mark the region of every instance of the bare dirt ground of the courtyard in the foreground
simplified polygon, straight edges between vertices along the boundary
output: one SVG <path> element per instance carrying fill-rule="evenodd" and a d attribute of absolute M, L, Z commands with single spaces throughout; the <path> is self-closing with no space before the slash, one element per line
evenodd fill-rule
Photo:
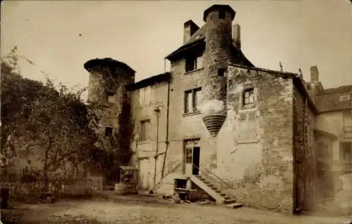
<path fill-rule="evenodd" d="M 347 217 L 286 216 L 271 211 L 197 203 L 173 204 L 146 196 L 113 196 L 89 200 L 61 200 L 54 204 L 17 204 L 4 210 L 6 223 L 346 223 Z M 4 218 L 6 221 L 4 221 Z"/>

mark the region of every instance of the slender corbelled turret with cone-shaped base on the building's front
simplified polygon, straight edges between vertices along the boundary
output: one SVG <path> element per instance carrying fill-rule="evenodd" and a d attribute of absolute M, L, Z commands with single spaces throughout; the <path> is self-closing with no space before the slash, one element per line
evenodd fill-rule
<path fill-rule="evenodd" d="M 217 136 L 226 119 L 227 65 L 232 60 L 232 21 L 236 13 L 228 5 L 204 11 L 206 51 L 203 59 L 203 121 Z"/>

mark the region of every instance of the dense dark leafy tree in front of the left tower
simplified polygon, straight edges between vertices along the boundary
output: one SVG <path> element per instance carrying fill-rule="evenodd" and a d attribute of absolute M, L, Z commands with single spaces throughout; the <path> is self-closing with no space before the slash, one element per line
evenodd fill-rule
<path fill-rule="evenodd" d="M 1 154 L 7 159 L 41 160 L 44 178 L 65 174 L 67 165 L 77 169 L 94 147 L 96 136 L 89 127 L 89 113 L 80 99 L 85 89 L 71 91 L 25 79 L 15 72 L 15 52 L 1 60 Z"/>

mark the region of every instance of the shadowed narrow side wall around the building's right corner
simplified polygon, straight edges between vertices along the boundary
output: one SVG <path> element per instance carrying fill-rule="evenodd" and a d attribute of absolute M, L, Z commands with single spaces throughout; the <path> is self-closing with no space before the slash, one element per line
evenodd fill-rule
<path fill-rule="evenodd" d="M 308 100 L 294 88 L 294 207 L 295 212 L 315 207 L 315 117 Z"/>

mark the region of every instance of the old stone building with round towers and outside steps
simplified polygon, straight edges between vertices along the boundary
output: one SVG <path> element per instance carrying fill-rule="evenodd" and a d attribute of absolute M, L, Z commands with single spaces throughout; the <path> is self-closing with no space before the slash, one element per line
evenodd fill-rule
<path fill-rule="evenodd" d="M 234 17 L 213 5 L 201 27 L 185 22 L 170 72 L 139 82 L 122 62 L 87 62 L 89 101 L 106 105 L 99 132 L 111 136 L 128 96 L 140 188 L 172 194 L 191 178 L 219 204 L 310 211 L 351 173 L 352 86 L 324 89 L 315 66 L 308 82 L 256 67 Z"/>

